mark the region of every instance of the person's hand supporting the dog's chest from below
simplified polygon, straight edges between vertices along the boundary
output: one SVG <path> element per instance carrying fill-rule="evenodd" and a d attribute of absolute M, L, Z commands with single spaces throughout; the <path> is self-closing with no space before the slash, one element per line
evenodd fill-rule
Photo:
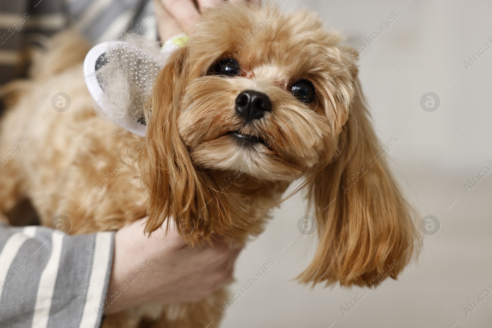
<path fill-rule="evenodd" d="M 174 228 L 165 236 L 165 228 L 161 227 L 147 238 L 143 232 L 145 220 L 115 234 L 104 314 L 145 303 L 198 301 L 232 280 L 240 248 L 215 238 L 213 246 L 201 244 L 191 249 Z"/>

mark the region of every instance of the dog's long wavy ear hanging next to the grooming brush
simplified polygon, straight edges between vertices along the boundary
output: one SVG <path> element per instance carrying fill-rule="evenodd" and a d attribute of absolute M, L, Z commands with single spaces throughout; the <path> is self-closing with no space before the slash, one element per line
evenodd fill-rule
<path fill-rule="evenodd" d="M 149 145 L 139 164 L 149 193 L 146 233 L 158 229 L 166 218 L 174 218 L 179 232 L 194 243 L 219 231 L 220 224 L 230 219 L 230 209 L 212 177 L 193 165 L 179 135 L 186 55 L 186 48 L 177 50 L 157 76 L 145 113 Z"/>

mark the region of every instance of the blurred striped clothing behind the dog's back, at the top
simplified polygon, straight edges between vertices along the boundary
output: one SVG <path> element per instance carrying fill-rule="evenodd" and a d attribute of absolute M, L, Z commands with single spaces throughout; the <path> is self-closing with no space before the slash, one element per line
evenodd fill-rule
<path fill-rule="evenodd" d="M 0 85 L 25 77 L 25 50 L 67 27 L 92 43 L 134 30 L 157 38 L 152 0 L 0 0 Z"/>

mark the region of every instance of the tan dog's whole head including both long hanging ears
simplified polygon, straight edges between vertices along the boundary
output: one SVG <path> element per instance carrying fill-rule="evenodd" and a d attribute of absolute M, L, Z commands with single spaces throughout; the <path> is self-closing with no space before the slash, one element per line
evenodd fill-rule
<path fill-rule="evenodd" d="M 216 177 L 245 173 L 238 185 L 269 191 L 268 181 L 305 175 L 319 244 L 301 281 L 370 284 L 398 261 L 396 277 L 415 227 L 381 158 L 357 54 L 341 42 L 307 10 L 224 2 L 206 12 L 159 73 L 145 114 L 147 231 L 173 217 L 190 242 L 211 233 L 245 240 L 257 229 L 251 213 L 264 209 L 230 202 L 237 193 Z"/>

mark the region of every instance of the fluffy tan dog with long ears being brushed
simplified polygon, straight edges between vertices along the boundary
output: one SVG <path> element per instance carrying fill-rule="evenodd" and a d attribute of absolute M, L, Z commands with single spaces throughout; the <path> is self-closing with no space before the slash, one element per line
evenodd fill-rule
<path fill-rule="evenodd" d="M 417 236 L 379 156 L 357 53 L 316 14 L 236 3 L 206 12 L 155 81 L 146 138 L 95 115 L 85 85 L 78 87 L 83 42 L 54 42 L 33 68 L 45 86 L 32 79 L 10 87 L 21 95 L 1 122 L 0 154 L 23 136 L 29 141 L 2 162 L 1 211 L 27 197 L 43 225 L 62 214 L 73 234 L 119 229 L 148 214 L 149 233 L 173 218 L 190 244 L 215 233 L 243 245 L 303 178 L 319 244 L 300 282 L 369 285 L 394 259 L 392 278 L 409 261 Z M 51 106 L 60 91 L 72 99 L 65 113 Z M 218 327 L 225 299 L 220 290 L 156 307 L 155 327 Z M 136 327 L 145 314 L 110 315 L 104 327 Z"/>

